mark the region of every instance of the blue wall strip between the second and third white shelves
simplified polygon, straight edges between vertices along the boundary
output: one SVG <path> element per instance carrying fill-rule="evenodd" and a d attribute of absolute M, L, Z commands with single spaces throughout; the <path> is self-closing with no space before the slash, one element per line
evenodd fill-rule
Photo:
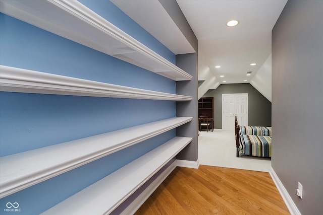
<path fill-rule="evenodd" d="M 0 104 L 1 156 L 175 116 L 174 101 L 1 92 Z"/>

